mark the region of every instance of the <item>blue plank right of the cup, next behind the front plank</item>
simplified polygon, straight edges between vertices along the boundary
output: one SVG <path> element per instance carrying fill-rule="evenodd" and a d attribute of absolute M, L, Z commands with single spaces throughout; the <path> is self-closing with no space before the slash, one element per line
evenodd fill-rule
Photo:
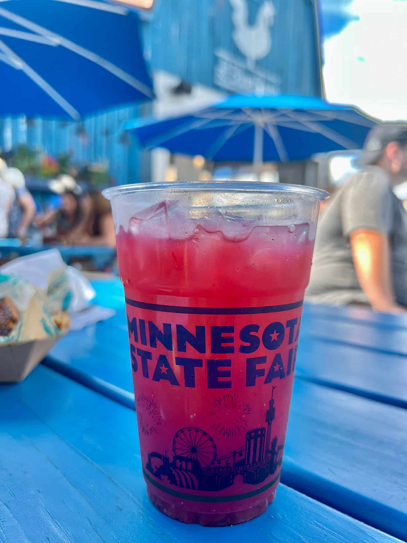
<path fill-rule="evenodd" d="M 405 409 L 295 380 L 284 483 L 407 540 L 406 473 Z"/>

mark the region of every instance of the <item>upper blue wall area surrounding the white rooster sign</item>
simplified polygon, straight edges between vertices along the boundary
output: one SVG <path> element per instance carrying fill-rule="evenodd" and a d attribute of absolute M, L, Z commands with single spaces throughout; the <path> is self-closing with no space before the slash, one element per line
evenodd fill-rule
<path fill-rule="evenodd" d="M 264 30 L 255 27 L 257 17 L 265 13 L 266 3 L 272 4 L 274 9 L 273 21 L 268 27 L 271 47 L 268 54 L 256 60 L 255 68 L 243 75 L 264 72 L 271 78 L 277 76 L 281 93 L 321 96 L 315 2 L 239 0 L 235 6 L 240 4 L 244 11 L 247 8 L 248 21 L 247 24 L 243 21 L 243 26 L 249 27 L 248 39 L 250 27 L 255 30 L 256 40 L 262 39 Z M 151 57 L 152 69 L 179 75 L 191 84 L 222 90 L 224 87 L 215 82 L 217 52 L 232 55 L 237 64 L 246 62 L 233 39 L 236 31 L 233 16 L 240 18 L 231 0 L 156 0 L 156 14 L 144 25 L 144 49 Z M 255 89 L 246 90 L 250 91 Z"/>

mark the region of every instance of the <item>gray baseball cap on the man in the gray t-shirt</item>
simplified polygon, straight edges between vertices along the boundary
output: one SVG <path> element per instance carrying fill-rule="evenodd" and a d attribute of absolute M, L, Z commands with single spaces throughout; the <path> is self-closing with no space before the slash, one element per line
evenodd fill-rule
<path fill-rule="evenodd" d="M 407 124 L 386 123 L 373 127 L 367 134 L 358 166 L 376 163 L 392 141 L 407 145 Z"/>

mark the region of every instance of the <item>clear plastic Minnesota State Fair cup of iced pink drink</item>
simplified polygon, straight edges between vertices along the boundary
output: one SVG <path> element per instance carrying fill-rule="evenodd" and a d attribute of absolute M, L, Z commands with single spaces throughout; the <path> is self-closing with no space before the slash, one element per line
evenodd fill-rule
<path fill-rule="evenodd" d="M 112 203 L 150 500 L 225 526 L 275 496 L 320 201 L 260 182 L 128 185 Z"/>

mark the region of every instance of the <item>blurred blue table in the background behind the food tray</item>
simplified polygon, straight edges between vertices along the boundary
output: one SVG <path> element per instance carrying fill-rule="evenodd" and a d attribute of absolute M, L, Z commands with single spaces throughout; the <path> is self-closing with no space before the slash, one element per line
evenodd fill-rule
<path fill-rule="evenodd" d="M 48 249 L 58 249 L 63 261 L 67 264 L 71 263 L 74 258 L 91 258 L 98 270 L 103 270 L 116 256 L 116 249 L 105 245 L 36 245 L 30 239 L 26 243 L 22 243 L 20 239 L 0 238 L 0 256 L 7 256 L 11 253 L 26 256 Z"/>

